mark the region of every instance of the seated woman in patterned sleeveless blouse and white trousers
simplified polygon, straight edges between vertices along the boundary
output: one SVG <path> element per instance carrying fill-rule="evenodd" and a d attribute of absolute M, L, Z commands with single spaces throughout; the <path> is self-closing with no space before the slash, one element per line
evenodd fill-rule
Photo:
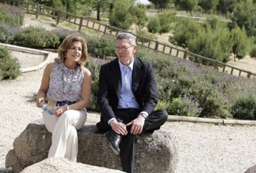
<path fill-rule="evenodd" d="M 59 46 L 59 57 L 45 67 L 36 106 L 43 106 L 46 129 L 53 133 L 48 157 L 76 162 L 77 130 L 87 118 L 92 76 L 83 64 L 88 59 L 87 44 L 80 36 L 67 36 Z M 45 106 L 45 97 L 48 104 Z"/>

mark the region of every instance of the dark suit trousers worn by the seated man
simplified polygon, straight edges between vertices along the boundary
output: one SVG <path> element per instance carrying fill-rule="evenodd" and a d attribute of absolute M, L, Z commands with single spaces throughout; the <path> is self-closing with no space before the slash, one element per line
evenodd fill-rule
<path fill-rule="evenodd" d="M 128 122 L 134 120 L 138 117 L 140 113 L 139 109 L 117 109 L 115 112 L 117 121 L 127 124 Z M 143 126 L 142 133 L 153 133 L 155 130 L 160 129 L 161 125 L 166 122 L 168 118 L 168 113 L 164 109 L 158 109 L 153 111 L 150 116 L 145 119 L 145 124 Z M 111 130 L 108 124 L 103 122 L 101 117 L 101 122 L 97 124 L 100 131 L 106 132 Z M 135 169 L 135 153 L 136 153 L 136 141 L 137 135 L 130 134 L 130 127 L 127 127 L 128 135 L 122 136 L 120 143 L 120 157 L 122 163 L 122 169 L 125 172 L 134 172 Z"/>

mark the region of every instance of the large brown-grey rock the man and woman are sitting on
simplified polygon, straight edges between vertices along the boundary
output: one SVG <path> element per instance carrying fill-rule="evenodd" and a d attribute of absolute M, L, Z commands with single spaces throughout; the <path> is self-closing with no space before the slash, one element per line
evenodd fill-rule
<path fill-rule="evenodd" d="M 77 162 L 122 170 L 121 161 L 109 148 L 108 140 L 95 133 L 95 125 L 85 125 L 78 131 Z M 174 172 L 177 164 L 176 141 L 162 130 L 137 136 L 136 172 Z M 20 172 L 25 167 L 47 158 L 51 133 L 43 120 L 28 124 L 14 140 L 14 150 L 6 156 L 6 167 Z"/>

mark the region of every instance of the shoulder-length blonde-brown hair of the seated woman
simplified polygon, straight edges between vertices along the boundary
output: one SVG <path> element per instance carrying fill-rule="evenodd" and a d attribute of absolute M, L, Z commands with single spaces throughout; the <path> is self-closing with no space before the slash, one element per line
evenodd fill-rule
<path fill-rule="evenodd" d="M 59 56 L 58 58 L 54 59 L 56 62 L 65 62 L 66 61 L 66 54 L 67 50 L 72 47 L 72 43 L 74 41 L 79 41 L 82 43 L 82 55 L 77 64 L 79 65 L 79 69 L 82 69 L 83 64 L 88 60 L 88 53 L 87 53 L 87 43 L 85 43 L 85 40 L 82 36 L 78 35 L 69 35 L 67 36 L 64 41 L 59 46 Z"/>

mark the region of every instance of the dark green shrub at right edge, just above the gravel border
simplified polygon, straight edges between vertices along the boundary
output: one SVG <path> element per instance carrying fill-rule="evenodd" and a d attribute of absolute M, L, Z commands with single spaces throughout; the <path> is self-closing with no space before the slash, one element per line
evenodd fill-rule
<path fill-rule="evenodd" d="M 231 108 L 231 114 L 236 119 L 256 119 L 256 99 L 254 96 L 243 96 L 236 100 Z"/>

